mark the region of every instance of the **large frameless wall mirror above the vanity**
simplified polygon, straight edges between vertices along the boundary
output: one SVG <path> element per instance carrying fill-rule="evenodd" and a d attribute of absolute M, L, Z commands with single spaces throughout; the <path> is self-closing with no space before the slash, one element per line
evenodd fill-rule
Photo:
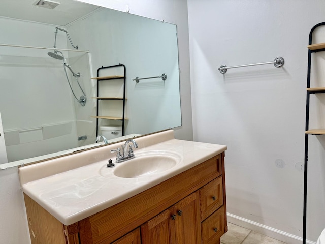
<path fill-rule="evenodd" d="M 116 127 L 109 142 L 181 126 L 176 25 L 60 2 L 0 3 L 0 114 L 8 161 L 20 165 L 98 146 L 100 126 Z M 99 68 L 117 64 L 126 68 L 124 137 L 118 134 L 121 120 L 95 118 L 99 81 L 91 79 Z M 162 74 L 166 80 L 134 81 Z M 119 97 L 120 82 L 100 89 Z M 77 101 L 83 93 L 84 106 Z M 102 103 L 100 112 L 120 116 L 123 103 Z"/>

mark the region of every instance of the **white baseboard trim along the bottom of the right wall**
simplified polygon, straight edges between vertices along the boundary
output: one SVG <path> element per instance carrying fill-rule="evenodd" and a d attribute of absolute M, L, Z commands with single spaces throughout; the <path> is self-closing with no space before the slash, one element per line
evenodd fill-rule
<path fill-rule="evenodd" d="M 299 237 L 297 235 L 292 235 L 289 233 L 286 233 L 284 231 L 274 229 L 272 227 L 259 224 L 257 222 L 244 219 L 242 217 L 227 213 L 228 222 L 239 225 L 241 227 L 247 228 L 249 230 L 256 231 L 258 233 L 261 233 L 263 235 L 267 235 L 271 238 L 283 241 L 288 244 L 301 244 L 303 241 L 302 237 Z M 306 244 L 316 244 L 313 241 L 306 240 Z"/>

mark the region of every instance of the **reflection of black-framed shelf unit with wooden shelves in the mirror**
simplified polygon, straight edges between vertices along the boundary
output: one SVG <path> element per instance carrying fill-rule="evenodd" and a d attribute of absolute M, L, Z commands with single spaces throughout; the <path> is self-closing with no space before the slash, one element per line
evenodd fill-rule
<path fill-rule="evenodd" d="M 123 75 L 111 75 L 111 76 L 99 76 L 99 73 L 103 69 L 111 69 L 116 67 L 123 67 Z M 97 80 L 97 95 L 96 97 L 93 97 L 96 99 L 96 116 L 92 116 L 96 118 L 96 132 L 97 135 L 99 134 L 99 119 L 109 119 L 109 120 L 119 120 L 122 121 L 122 136 L 124 136 L 124 126 L 125 126 L 125 84 L 126 84 L 126 68 L 123 64 L 113 65 L 113 66 L 106 66 L 106 67 L 100 67 L 97 70 L 97 77 L 91 78 Z M 107 81 L 107 80 L 116 80 L 116 79 L 123 79 L 123 96 L 122 97 L 100 97 L 99 96 L 99 82 L 100 81 Z M 122 108 L 122 116 L 109 116 L 109 115 L 101 115 L 99 114 L 99 101 L 100 100 L 121 100 L 123 102 L 123 108 Z"/>

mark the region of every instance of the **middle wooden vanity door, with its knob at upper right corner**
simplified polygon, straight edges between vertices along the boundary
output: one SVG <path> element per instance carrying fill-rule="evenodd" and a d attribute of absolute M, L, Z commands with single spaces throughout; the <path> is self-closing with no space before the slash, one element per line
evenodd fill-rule
<path fill-rule="evenodd" d="M 141 226 L 142 244 L 175 244 L 174 209 L 167 209 Z"/>

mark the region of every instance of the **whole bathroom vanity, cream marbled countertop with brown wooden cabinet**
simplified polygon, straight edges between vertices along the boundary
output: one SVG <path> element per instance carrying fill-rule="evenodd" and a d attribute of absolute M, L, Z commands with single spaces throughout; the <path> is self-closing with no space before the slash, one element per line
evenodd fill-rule
<path fill-rule="evenodd" d="M 135 140 L 136 158 L 114 168 L 109 152 L 122 144 L 19 168 L 31 243 L 219 243 L 226 146 L 176 140 L 172 130 Z M 115 175 L 148 157 L 156 171 Z"/>

